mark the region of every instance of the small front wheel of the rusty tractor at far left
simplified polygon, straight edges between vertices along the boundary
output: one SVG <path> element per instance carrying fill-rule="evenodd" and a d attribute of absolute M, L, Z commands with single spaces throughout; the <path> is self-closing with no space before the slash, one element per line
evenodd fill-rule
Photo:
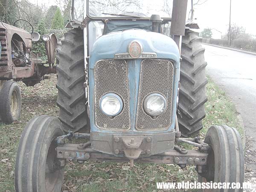
<path fill-rule="evenodd" d="M 15 81 L 6 81 L 0 90 L 1 121 L 9 124 L 20 118 L 21 92 Z"/>

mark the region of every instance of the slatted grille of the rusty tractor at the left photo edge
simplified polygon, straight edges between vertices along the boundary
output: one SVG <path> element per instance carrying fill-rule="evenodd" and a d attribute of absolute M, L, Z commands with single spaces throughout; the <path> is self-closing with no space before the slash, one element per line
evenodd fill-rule
<path fill-rule="evenodd" d="M 0 55 L 0 67 L 7 66 L 8 55 L 7 55 L 7 41 L 6 41 L 6 29 L 0 28 L 0 44 L 1 44 L 1 55 Z"/>

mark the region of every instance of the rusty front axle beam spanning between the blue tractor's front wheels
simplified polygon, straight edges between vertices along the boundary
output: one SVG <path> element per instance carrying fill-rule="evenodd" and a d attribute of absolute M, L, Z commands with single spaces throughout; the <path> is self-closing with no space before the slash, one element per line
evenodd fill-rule
<path fill-rule="evenodd" d="M 187 154 L 180 154 L 178 151 L 170 150 L 161 154 L 151 155 L 150 157 L 139 157 L 134 162 L 140 163 L 164 163 L 178 165 L 206 165 L 208 154 L 199 150 L 188 150 Z M 92 148 L 81 148 L 79 144 L 64 144 L 57 147 L 57 158 L 84 160 L 101 160 L 101 161 L 119 161 L 128 162 L 130 159 L 124 154 L 115 156 L 95 151 Z"/>

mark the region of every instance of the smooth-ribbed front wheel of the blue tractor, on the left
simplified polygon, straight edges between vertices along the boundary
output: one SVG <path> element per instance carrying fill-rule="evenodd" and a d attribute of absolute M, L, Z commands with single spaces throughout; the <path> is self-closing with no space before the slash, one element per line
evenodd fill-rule
<path fill-rule="evenodd" d="M 58 118 L 31 119 L 20 138 L 15 164 L 16 192 L 61 192 L 64 166 L 56 159 L 56 141 L 63 135 Z"/>

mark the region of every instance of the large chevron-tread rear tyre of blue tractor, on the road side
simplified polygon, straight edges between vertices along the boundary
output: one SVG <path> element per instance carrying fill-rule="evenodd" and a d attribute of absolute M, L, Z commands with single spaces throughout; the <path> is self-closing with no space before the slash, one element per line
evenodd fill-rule
<path fill-rule="evenodd" d="M 205 117 L 204 103 L 207 102 L 207 77 L 204 61 L 204 48 L 198 32 L 186 29 L 182 38 L 180 64 L 180 94 L 178 122 L 183 137 L 199 134 Z"/>

